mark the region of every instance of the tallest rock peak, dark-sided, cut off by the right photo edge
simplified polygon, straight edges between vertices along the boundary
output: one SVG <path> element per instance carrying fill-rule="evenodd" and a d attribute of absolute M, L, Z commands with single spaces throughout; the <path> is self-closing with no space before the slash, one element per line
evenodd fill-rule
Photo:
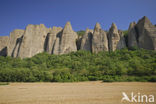
<path fill-rule="evenodd" d="M 156 50 L 156 27 L 147 17 L 143 17 L 136 24 L 138 44 L 140 48 Z"/>

